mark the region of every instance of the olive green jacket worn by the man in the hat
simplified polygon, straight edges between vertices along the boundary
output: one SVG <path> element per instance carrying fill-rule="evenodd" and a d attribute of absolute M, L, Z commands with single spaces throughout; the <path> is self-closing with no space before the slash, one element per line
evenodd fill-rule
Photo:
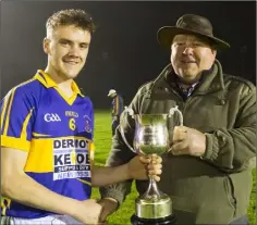
<path fill-rule="evenodd" d="M 155 80 L 142 86 L 130 107 L 137 114 L 168 113 L 179 105 L 184 126 L 205 133 L 207 147 L 201 159 L 163 154 L 158 187 L 171 196 L 178 224 L 229 224 L 245 215 L 249 203 L 252 162 L 256 157 L 256 88 L 243 78 L 224 75 L 216 61 L 184 101 L 171 71 L 168 65 Z M 174 125 L 175 121 L 168 127 L 172 130 Z M 126 112 L 122 114 L 121 126 L 132 145 L 135 123 Z M 123 164 L 134 155 L 122 140 L 120 128 L 117 129 L 107 165 Z M 101 188 L 101 196 L 121 203 L 131 183 Z M 148 182 L 137 180 L 139 195 L 147 186 Z"/>

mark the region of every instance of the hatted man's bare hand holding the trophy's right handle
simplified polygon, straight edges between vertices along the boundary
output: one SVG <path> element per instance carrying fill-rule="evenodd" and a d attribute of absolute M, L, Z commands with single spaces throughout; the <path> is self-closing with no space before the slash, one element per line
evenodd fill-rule
<path fill-rule="evenodd" d="M 175 126 L 172 142 L 171 152 L 174 155 L 203 157 L 206 151 L 205 134 L 186 126 Z"/>

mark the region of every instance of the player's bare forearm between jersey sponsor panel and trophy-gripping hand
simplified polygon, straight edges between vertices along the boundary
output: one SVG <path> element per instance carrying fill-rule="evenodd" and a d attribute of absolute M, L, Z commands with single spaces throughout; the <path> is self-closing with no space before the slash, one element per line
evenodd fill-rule
<path fill-rule="evenodd" d="M 100 187 L 130 179 L 127 164 L 119 166 L 94 166 L 91 175 L 93 186 Z"/>

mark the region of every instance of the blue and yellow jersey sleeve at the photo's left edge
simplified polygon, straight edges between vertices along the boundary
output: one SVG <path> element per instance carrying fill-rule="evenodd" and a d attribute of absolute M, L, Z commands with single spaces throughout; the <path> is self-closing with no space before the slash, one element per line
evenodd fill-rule
<path fill-rule="evenodd" d="M 36 116 L 33 95 L 16 87 L 0 103 L 1 146 L 29 151 L 33 124 Z"/>

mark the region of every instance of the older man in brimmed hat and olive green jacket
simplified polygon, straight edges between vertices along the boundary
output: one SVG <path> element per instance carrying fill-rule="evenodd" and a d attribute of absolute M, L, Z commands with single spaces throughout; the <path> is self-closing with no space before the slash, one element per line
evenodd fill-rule
<path fill-rule="evenodd" d="M 171 64 L 139 88 L 130 108 L 135 113 L 168 113 L 179 105 L 183 113 L 184 126 L 175 126 L 176 117 L 169 124 L 171 148 L 162 155 L 158 186 L 172 198 L 178 224 L 248 224 L 256 88 L 222 72 L 217 51 L 230 45 L 213 36 L 206 17 L 185 14 L 175 26 L 161 27 L 157 37 L 171 50 Z M 132 145 L 135 123 L 126 112 L 121 118 Z M 107 165 L 122 164 L 133 155 L 118 128 Z M 142 195 L 147 182 L 137 180 L 136 187 Z M 130 188 L 131 182 L 102 188 L 108 205 L 102 215 L 113 212 Z"/>

